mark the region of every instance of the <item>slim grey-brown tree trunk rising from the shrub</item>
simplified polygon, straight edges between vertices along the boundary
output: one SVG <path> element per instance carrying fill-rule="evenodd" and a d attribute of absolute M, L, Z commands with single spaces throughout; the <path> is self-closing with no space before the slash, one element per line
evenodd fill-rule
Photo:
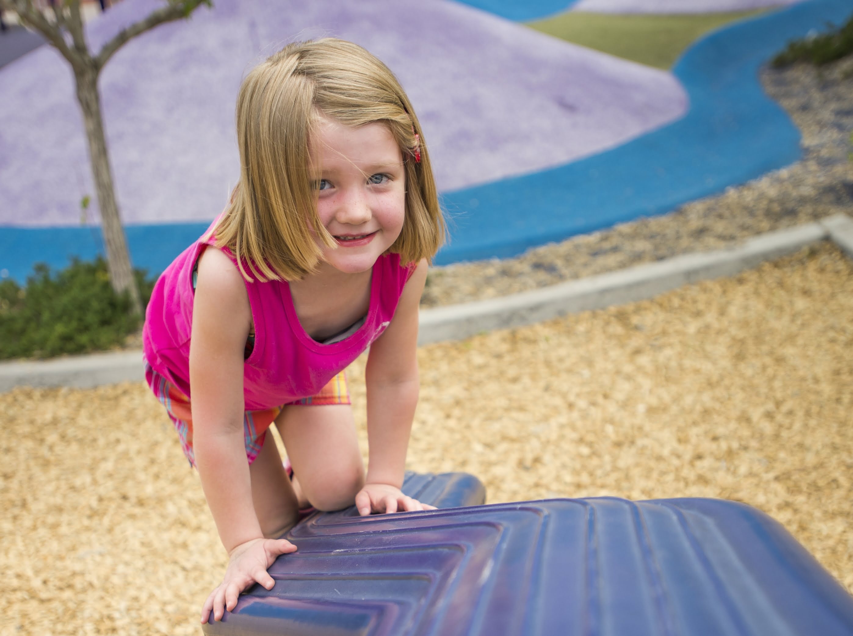
<path fill-rule="evenodd" d="M 92 176 L 95 177 L 98 207 L 101 209 L 101 229 L 107 250 L 110 282 L 116 292 L 125 290 L 130 292 L 131 310 L 141 315 L 142 300 L 139 297 L 136 279 L 133 277 L 131 257 L 127 250 L 127 240 L 125 240 L 125 228 L 121 224 L 119 205 L 115 200 L 113 172 L 109 165 L 107 139 L 101 118 L 98 72 L 94 68 L 86 67 L 75 71 L 74 78 L 77 80 L 77 99 L 83 111 Z"/>

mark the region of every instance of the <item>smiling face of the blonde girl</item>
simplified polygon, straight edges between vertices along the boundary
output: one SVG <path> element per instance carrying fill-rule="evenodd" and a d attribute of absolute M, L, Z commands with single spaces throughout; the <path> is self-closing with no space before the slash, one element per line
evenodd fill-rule
<path fill-rule="evenodd" d="M 403 156 L 385 124 L 350 128 L 322 117 L 311 136 L 317 213 L 337 245 L 321 246 L 334 269 L 357 274 L 397 240 L 405 217 Z"/>

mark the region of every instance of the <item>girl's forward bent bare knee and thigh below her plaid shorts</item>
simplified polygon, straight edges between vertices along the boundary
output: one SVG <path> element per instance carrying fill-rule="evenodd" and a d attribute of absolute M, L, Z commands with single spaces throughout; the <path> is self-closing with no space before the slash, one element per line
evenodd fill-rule
<path fill-rule="evenodd" d="M 285 407 L 276 426 L 310 505 L 324 511 L 352 506 L 364 485 L 364 464 L 350 406 Z"/>

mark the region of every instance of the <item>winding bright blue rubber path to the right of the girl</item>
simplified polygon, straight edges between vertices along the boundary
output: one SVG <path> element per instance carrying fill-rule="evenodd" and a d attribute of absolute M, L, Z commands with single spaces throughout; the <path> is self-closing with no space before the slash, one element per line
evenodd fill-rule
<path fill-rule="evenodd" d="M 690 99 L 683 119 L 588 159 L 444 195 L 453 240 L 437 263 L 513 257 L 797 161 L 799 130 L 763 93 L 758 69 L 788 41 L 851 11 L 850 0 L 813 0 L 713 32 L 674 68 Z"/>

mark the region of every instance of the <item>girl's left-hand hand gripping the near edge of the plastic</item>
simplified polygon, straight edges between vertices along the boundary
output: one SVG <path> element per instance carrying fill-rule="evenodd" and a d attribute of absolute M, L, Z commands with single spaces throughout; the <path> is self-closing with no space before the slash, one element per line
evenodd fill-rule
<path fill-rule="evenodd" d="M 201 622 L 207 622 L 211 610 L 213 620 L 221 620 L 225 610 L 235 608 L 240 593 L 256 582 L 271 590 L 276 581 L 266 570 L 278 555 L 288 552 L 296 552 L 296 546 L 286 539 L 252 539 L 236 546 L 229 554 L 228 570 L 225 570 L 222 583 L 201 608 Z"/>

